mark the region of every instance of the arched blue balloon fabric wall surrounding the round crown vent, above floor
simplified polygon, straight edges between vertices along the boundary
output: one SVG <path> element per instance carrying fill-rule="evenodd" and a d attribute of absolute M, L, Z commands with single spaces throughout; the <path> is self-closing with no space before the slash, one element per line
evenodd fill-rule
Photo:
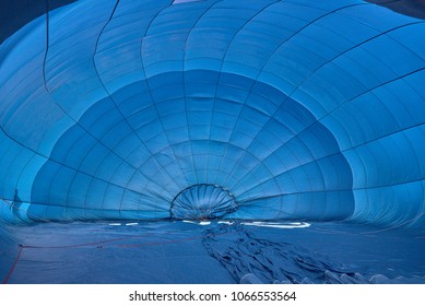
<path fill-rule="evenodd" d="M 424 42 L 359 0 L 51 11 L 0 47 L 0 215 L 168 219 L 204 184 L 225 217 L 423 227 Z"/>

